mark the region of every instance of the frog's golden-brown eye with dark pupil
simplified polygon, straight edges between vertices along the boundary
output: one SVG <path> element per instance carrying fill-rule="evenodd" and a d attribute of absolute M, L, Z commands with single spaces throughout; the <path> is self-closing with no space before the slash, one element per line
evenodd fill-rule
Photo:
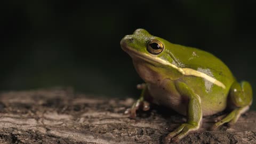
<path fill-rule="evenodd" d="M 159 54 L 164 50 L 163 43 L 157 41 L 156 39 L 153 39 L 148 42 L 147 44 L 147 51 L 152 54 Z"/>

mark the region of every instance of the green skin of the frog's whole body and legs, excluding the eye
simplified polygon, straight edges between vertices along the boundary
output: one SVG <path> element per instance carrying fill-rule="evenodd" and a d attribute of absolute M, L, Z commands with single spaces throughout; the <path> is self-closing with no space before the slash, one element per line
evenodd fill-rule
<path fill-rule="evenodd" d="M 161 53 L 151 54 L 147 50 L 147 44 L 152 39 L 163 44 Z M 166 142 L 179 141 L 188 132 L 198 130 L 202 116 L 218 113 L 227 106 L 234 110 L 222 121 L 214 124 L 213 129 L 227 122 L 233 124 L 252 103 L 251 85 L 248 82 L 237 83 L 229 68 L 208 52 L 172 44 L 163 38 L 150 35 L 144 29 L 137 29 L 133 35 L 126 35 L 121 40 L 121 47 L 131 56 L 135 69 L 146 82 L 140 99 L 130 110 L 130 116 L 134 118 L 139 105 L 143 105 L 146 90 L 154 99 L 153 102 L 187 116 L 187 123 L 167 135 Z M 154 60 L 156 57 L 176 67 Z M 204 73 L 225 87 L 210 82 L 205 77 L 182 74 L 179 68 Z"/>

